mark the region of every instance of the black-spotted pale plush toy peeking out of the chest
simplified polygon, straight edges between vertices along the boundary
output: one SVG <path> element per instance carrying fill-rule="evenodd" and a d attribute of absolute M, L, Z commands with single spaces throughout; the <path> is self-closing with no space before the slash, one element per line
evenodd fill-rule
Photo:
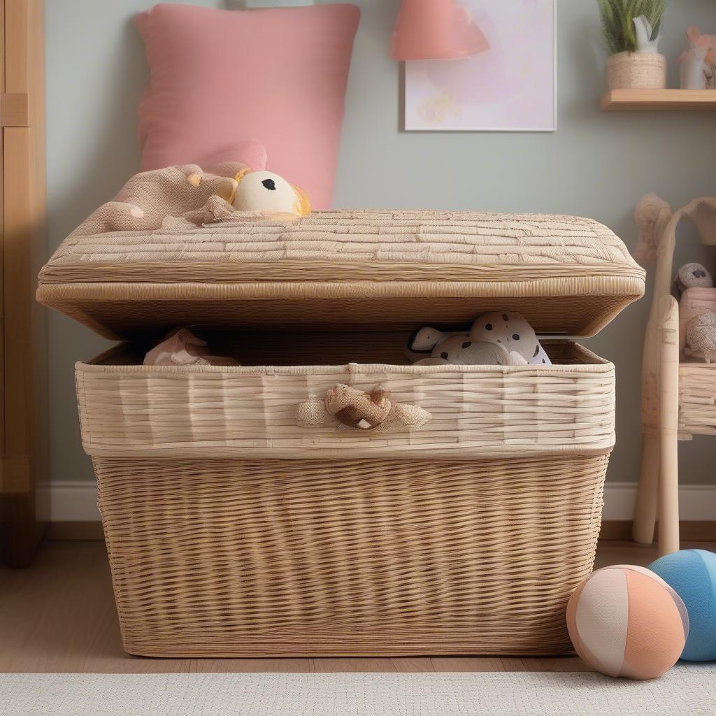
<path fill-rule="evenodd" d="M 413 354 L 430 353 L 430 357 L 415 361 L 417 365 L 552 364 L 526 319 L 505 311 L 483 314 L 468 333 L 423 328 L 410 349 Z"/>

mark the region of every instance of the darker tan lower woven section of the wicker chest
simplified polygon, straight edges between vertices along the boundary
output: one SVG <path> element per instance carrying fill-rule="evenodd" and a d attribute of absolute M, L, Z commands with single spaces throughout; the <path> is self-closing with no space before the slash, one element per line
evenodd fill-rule
<path fill-rule="evenodd" d="M 560 654 L 607 456 L 94 463 L 127 652 Z"/>

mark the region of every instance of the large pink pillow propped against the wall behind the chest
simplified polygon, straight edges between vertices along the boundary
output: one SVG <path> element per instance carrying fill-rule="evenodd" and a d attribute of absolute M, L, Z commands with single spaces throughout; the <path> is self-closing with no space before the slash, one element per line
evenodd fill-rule
<path fill-rule="evenodd" d="M 271 171 L 305 189 L 314 207 L 329 207 L 359 16 L 344 4 L 160 4 L 137 15 L 150 65 L 139 108 L 142 170 L 200 164 L 225 147 L 261 155 L 263 145 Z M 226 159 L 251 165 L 237 151 Z"/>

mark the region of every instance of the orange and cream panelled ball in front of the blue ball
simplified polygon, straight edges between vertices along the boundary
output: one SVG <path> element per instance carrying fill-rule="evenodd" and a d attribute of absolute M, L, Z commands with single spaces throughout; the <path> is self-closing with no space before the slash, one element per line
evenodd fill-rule
<path fill-rule="evenodd" d="M 567 606 L 574 649 L 612 677 L 656 679 L 681 656 L 689 617 L 681 597 L 644 567 L 599 569 L 577 587 Z"/>

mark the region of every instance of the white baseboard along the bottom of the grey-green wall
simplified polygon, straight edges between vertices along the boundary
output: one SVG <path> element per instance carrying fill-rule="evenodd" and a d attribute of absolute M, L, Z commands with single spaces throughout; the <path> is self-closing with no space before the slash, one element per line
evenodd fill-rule
<path fill-rule="evenodd" d="M 636 498 L 637 485 L 634 483 L 607 483 L 604 520 L 631 520 Z M 95 522 L 100 519 L 95 483 L 80 480 L 51 483 L 49 505 L 52 522 Z M 716 485 L 682 485 L 679 506 L 682 520 L 716 521 Z"/>

